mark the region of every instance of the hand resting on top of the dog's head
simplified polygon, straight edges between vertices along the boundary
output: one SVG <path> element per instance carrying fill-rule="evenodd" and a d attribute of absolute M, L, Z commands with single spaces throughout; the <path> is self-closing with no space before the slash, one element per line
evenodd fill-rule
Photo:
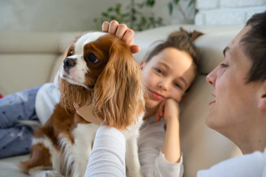
<path fill-rule="evenodd" d="M 121 38 L 127 45 L 129 45 L 132 53 L 138 53 L 140 51 L 140 46 L 134 45 L 134 31 L 129 29 L 126 24 L 119 24 L 115 20 L 112 20 L 110 23 L 103 22 L 102 30 L 103 32 L 108 32 Z"/>

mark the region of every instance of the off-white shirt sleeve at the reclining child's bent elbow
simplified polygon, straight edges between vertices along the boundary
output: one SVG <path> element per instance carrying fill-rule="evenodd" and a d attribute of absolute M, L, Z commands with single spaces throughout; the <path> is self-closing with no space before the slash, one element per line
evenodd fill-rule
<path fill-rule="evenodd" d="M 138 140 L 139 160 L 145 177 L 181 177 L 184 173 L 183 157 L 179 163 L 168 162 L 161 149 L 165 137 L 165 122 L 156 122 L 154 117 L 140 130 Z"/>

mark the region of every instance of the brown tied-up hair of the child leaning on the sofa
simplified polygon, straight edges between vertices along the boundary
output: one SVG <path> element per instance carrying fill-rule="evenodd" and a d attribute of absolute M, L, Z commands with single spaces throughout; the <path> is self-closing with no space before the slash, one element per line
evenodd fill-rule
<path fill-rule="evenodd" d="M 180 31 L 171 32 L 168 35 L 166 41 L 162 41 L 146 55 L 146 62 L 150 61 L 151 58 L 153 58 L 155 55 L 158 55 L 165 48 L 173 47 L 177 50 L 184 51 L 191 56 L 194 62 L 195 71 L 197 75 L 200 57 L 193 42 L 195 39 L 197 39 L 197 37 L 201 35 L 203 35 L 202 32 L 198 32 L 196 30 L 194 30 L 193 32 L 187 32 L 186 30 L 184 30 L 184 28 L 180 27 Z"/>

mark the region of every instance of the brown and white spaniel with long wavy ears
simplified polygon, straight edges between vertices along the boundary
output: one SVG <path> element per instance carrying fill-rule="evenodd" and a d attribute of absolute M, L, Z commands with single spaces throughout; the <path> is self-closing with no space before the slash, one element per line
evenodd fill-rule
<path fill-rule="evenodd" d="M 83 177 L 98 125 L 75 111 L 93 105 L 108 126 L 126 128 L 126 175 L 142 176 L 137 138 L 145 112 L 145 86 L 129 46 L 104 32 L 88 32 L 67 48 L 56 74 L 60 102 L 35 131 L 30 159 L 21 162 L 30 176 Z"/>

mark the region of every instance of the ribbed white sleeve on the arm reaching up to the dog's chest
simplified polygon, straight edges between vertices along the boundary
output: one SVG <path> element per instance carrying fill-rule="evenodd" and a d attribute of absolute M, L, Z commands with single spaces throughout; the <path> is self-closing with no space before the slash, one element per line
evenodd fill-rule
<path fill-rule="evenodd" d="M 84 177 L 125 177 L 126 141 L 117 129 L 98 128 Z"/>

